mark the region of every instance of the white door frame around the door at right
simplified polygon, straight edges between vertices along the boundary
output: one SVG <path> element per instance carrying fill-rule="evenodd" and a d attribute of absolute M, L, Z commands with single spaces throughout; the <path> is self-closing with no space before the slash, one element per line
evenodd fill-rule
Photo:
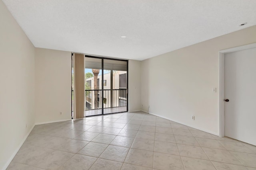
<path fill-rule="evenodd" d="M 226 53 L 231 53 L 235 51 L 245 50 L 255 48 L 256 43 L 242 45 L 239 47 L 234 47 L 230 49 L 224 49 L 219 51 L 219 137 L 224 137 L 225 130 L 225 116 L 224 116 L 224 56 Z"/>

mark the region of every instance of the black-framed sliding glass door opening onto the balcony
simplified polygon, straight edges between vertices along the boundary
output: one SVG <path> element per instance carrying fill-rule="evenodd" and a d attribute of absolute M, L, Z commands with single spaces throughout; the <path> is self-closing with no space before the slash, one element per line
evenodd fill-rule
<path fill-rule="evenodd" d="M 128 111 L 128 61 L 85 56 L 84 115 Z"/>

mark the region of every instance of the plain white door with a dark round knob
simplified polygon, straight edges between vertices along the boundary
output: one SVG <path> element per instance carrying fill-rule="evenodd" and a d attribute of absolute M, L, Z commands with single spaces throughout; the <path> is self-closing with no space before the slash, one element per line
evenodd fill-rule
<path fill-rule="evenodd" d="M 225 136 L 256 145 L 256 48 L 225 54 Z"/>

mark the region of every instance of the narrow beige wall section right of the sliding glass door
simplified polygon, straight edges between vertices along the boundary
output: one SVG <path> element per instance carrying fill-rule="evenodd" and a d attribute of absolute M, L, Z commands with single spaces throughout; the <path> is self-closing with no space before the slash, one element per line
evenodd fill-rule
<path fill-rule="evenodd" d="M 128 62 L 128 111 L 141 110 L 141 61 Z M 148 85 L 147 85 L 148 86 Z"/>

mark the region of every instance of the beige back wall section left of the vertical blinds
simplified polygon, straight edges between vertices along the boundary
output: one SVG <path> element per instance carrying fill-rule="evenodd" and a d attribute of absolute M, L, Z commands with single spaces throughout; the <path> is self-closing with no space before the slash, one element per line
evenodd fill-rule
<path fill-rule="evenodd" d="M 71 52 L 36 48 L 35 56 L 36 124 L 71 119 Z"/>

